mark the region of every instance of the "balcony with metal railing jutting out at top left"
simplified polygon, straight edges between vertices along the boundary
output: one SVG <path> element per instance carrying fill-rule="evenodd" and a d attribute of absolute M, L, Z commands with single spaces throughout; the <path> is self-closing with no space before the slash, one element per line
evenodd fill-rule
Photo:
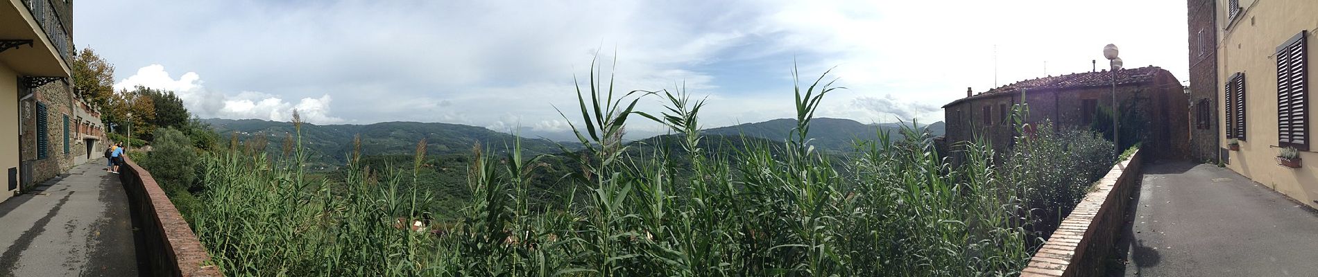
<path fill-rule="evenodd" d="M 55 0 L 0 0 L 0 63 L 21 76 L 70 76 L 72 41 Z"/>

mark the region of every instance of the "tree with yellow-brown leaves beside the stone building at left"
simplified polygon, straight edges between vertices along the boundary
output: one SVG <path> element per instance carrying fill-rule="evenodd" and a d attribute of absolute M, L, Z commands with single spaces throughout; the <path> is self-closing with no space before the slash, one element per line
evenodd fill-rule
<path fill-rule="evenodd" d="M 115 95 L 115 64 L 105 62 L 92 49 L 74 56 L 74 92 L 98 109 L 105 109 Z"/>

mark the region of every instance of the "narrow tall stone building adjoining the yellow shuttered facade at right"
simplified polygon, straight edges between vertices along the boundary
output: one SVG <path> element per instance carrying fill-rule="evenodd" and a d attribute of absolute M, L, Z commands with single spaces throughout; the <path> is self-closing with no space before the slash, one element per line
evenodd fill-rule
<path fill-rule="evenodd" d="M 1189 0 L 1190 159 L 1218 163 L 1217 0 Z"/>

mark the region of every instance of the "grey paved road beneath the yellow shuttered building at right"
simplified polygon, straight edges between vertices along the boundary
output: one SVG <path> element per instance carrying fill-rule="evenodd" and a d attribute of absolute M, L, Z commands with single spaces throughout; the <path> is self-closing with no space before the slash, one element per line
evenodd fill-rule
<path fill-rule="evenodd" d="M 1210 164 L 1148 164 L 1126 276 L 1318 276 L 1318 213 Z"/>

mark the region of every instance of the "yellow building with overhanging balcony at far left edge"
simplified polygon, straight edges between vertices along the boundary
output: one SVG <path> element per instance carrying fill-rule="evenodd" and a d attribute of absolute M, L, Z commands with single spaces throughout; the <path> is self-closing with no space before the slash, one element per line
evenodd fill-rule
<path fill-rule="evenodd" d="M 18 190 L 22 173 L 22 102 L 33 88 L 67 81 L 71 58 L 69 1 L 0 0 L 0 200 Z"/>

